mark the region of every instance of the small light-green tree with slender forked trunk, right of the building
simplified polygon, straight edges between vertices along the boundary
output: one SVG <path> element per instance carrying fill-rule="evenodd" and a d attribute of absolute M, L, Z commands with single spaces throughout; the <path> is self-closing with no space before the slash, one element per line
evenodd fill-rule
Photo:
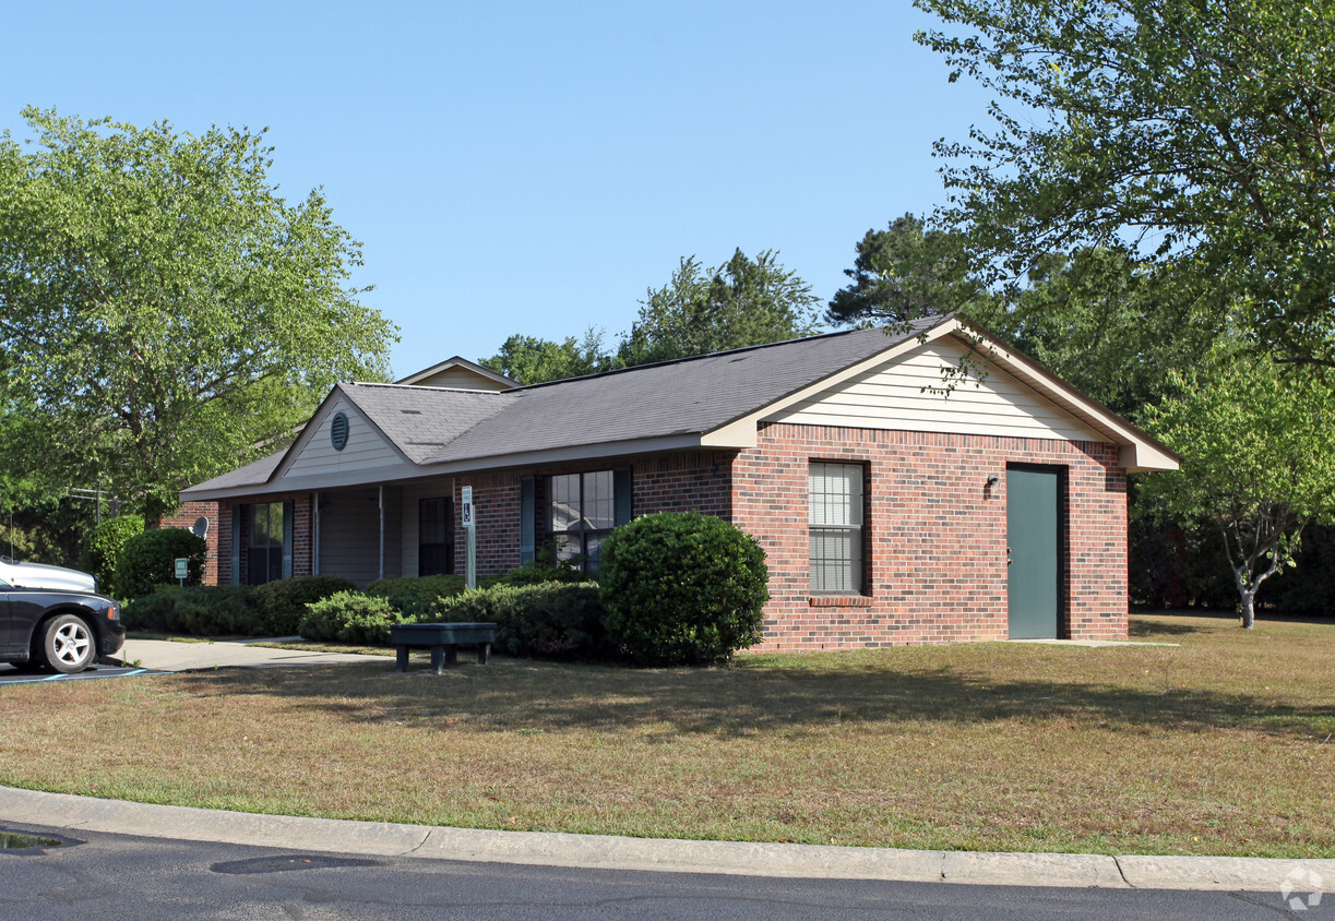
<path fill-rule="evenodd" d="M 1219 533 L 1250 629 L 1256 591 L 1292 563 L 1303 527 L 1335 514 L 1335 391 L 1268 359 L 1226 356 L 1176 380 L 1181 394 L 1145 416 L 1181 469 L 1143 491 L 1160 517 Z"/>

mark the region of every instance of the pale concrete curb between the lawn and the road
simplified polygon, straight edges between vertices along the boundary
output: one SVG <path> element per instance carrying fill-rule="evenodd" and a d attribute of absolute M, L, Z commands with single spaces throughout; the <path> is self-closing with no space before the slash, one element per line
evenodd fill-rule
<path fill-rule="evenodd" d="M 7 786 L 0 786 L 0 821 L 284 850 L 659 873 L 1274 893 L 1295 870 L 1335 880 L 1335 860 L 977 853 L 491 832 L 259 816 Z"/>

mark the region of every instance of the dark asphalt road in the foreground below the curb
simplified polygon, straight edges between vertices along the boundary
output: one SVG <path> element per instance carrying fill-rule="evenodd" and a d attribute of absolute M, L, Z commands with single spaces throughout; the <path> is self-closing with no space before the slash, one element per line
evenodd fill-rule
<path fill-rule="evenodd" d="M 1335 918 L 1276 893 L 784 880 L 469 864 L 7 825 L 0 917 L 44 918 Z"/>

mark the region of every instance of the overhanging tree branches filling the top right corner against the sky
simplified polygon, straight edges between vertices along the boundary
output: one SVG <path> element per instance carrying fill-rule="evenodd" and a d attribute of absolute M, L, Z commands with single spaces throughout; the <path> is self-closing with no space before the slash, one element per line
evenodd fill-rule
<path fill-rule="evenodd" d="M 1335 366 L 1335 7 L 914 0 L 918 40 L 995 93 L 940 143 L 943 219 L 1015 283 L 1101 247 L 1188 283 L 1278 360 Z M 1160 304 L 1163 307 L 1163 304 Z"/>

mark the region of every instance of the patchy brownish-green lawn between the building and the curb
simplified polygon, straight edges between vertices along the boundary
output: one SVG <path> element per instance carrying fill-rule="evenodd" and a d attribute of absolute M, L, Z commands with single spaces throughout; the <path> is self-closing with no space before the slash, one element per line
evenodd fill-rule
<path fill-rule="evenodd" d="M 1133 618 L 1179 647 L 8 685 L 0 784 L 474 828 L 1335 856 L 1335 623 L 1236 623 Z"/>

